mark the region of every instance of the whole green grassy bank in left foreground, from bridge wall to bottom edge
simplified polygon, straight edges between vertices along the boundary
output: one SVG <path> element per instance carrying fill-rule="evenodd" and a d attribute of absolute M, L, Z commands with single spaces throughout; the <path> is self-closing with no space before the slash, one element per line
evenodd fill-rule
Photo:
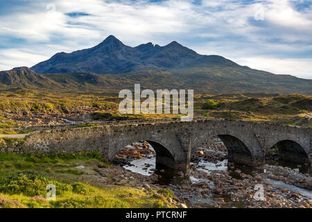
<path fill-rule="evenodd" d="M 142 191 L 126 185 L 103 187 L 80 182 L 94 166 L 110 167 L 96 153 L 52 156 L 0 153 L 0 208 L 174 207 L 170 190 Z M 85 169 L 76 169 L 83 165 Z M 46 185 L 56 187 L 56 200 L 46 200 Z M 174 197 L 174 196 L 173 196 Z"/>

